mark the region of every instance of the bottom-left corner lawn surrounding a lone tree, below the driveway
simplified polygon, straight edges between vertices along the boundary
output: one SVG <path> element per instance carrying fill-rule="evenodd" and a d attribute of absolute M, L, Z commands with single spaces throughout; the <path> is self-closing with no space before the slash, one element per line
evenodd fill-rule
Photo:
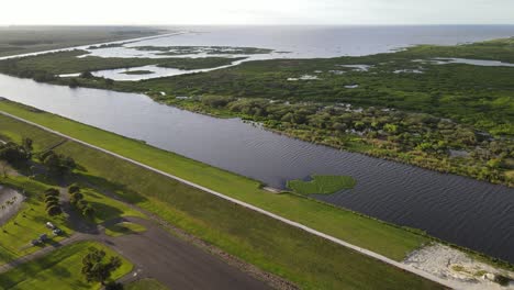
<path fill-rule="evenodd" d="M 76 243 L 0 275 L 0 289 L 100 289 L 99 283 L 87 283 L 80 272 L 82 257 L 87 255 L 89 247 L 101 248 L 109 257 L 118 255 L 99 243 Z M 122 267 L 114 271 L 111 278 L 123 277 L 132 267 L 133 265 L 122 257 Z"/>

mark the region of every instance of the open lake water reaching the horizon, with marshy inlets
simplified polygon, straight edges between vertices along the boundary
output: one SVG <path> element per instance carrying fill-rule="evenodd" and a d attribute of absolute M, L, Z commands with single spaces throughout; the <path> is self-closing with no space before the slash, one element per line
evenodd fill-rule
<path fill-rule="evenodd" d="M 416 44 L 455 45 L 514 35 L 514 25 L 417 25 L 417 26 L 174 26 L 177 33 L 144 37 L 122 47 L 87 49 L 100 57 L 247 57 L 246 60 L 270 58 L 315 58 L 360 56 L 387 53 Z M 256 55 L 211 55 L 205 53 L 165 56 L 159 52 L 138 51 L 137 46 L 238 46 L 273 49 Z M 237 65 L 239 62 L 235 62 Z M 131 70 L 148 69 L 148 67 Z M 152 75 L 126 75 L 125 69 L 94 71 L 99 77 L 115 80 L 139 80 L 176 76 L 202 70 L 152 68 Z"/>

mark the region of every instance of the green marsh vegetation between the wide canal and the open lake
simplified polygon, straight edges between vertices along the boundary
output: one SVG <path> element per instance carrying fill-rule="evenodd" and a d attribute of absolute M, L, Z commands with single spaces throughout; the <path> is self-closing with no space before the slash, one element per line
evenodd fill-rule
<path fill-rule="evenodd" d="M 4 60 L 0 71 L 74 87 L 144 92 L 191 111 L 260 122 L 309 142 L 514 185 L 514 67 L 421 62 L 458 57 L 514 63 L 512 38 L 360 57 L 247 62 L 141 81 L 55 77 L 157 62 L 77 58 L 80 54 Z M 192 69 L 235 60 L 187 59 L 165 58 L 159 66 Z"/>

